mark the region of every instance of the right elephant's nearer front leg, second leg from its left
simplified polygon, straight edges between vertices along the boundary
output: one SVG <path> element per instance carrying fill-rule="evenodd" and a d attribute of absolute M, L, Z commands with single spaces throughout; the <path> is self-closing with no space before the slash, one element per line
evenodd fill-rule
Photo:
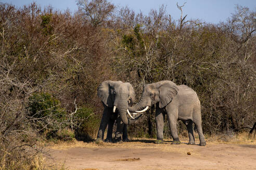
<path fill-rule="evenodd" d="M 171 129 L 171 134 L 173 137 L 173 143 L 172 144 L 181 144 L 180 139 L 178 138 L 178 132 L 177 132 L 177 110 L 171 110 L 167 114 L 167 119 L 169 122 L 169 126 Z"/>

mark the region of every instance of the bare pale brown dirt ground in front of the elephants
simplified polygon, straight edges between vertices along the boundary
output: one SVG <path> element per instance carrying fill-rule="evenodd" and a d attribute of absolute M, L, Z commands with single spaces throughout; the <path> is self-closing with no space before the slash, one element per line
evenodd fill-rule
<path fill-rule="evenodd" d="M 254 143 L 253 143 L 254 144 Z M 255 169 L 256 145 L 207 143 L 207 146 L 128 143 L 84 143 L 54 146 L 50 160 L 69 169 Z M 189 155 L 190 153 L 190 155 Z"/>

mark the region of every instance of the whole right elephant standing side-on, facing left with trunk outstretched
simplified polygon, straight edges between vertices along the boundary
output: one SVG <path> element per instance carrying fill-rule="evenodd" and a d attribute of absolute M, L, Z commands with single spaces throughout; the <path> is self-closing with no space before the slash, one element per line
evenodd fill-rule
<path fill-rule="evenodd" d="M 195 145 L 193 134 L 194 122 L 199 134 L 199 145 L 206 145 L 202 133 L 201 105 L 193 89 L 184 84 L 177 86 L 174 82 L 168 80 L 146 84 L 139 102 L 129 107 L 129 111 L 144 112 L 154 104 L 156 104 L 155 118 L 157 125 L 157 140 L 155 143 L 162 143 L 163 141 L 164 117 L 167 115 L 171 135 L 173 137 L 173 144 L 181 144 L 177 134 L 177 121 L 182 120 L 188 130 L 188 144 Z"/>

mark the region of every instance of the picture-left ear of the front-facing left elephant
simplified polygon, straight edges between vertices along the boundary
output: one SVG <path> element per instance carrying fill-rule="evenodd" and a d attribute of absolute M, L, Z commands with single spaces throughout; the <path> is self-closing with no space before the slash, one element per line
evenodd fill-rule
<path fill-rule="evenodd" d="M 111 82 L 112 81 L 103 81 L 99 84 L 97 95 L 100 100 L 108 107 L 113 107 L 113 97 L 111 93 Z"/>

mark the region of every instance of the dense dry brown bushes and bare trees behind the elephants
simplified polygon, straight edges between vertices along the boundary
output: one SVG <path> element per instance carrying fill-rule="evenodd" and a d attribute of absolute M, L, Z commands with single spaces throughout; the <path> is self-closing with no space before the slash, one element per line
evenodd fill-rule
<path fill-rule="evenodd" d="M 92 140 L 104 80 L 172 80 L 199 96 L 206 134 L 240 132 L 256 121 L 255 11 L 236 6 L 219 24 L 148 15 L 106 0 L 78 1 L 71 13 L 35 3 L 0 4 L 0 169 L 33 169 L 42 140 Z M 154 106 L 129 135 L 154 137 Z M 179 125 L 180 131 L 184 125 Z M 168 126 L 165 127 L 165 135 Z"/>

